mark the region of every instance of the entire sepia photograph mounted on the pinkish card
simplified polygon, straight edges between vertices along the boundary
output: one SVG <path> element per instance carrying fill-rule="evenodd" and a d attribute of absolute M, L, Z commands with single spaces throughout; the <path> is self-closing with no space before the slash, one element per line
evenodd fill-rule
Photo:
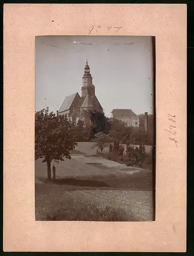
<path fill-rule="evenodd" d="M 155 38 L 36 36 L 35 220 L 155 220 Z"/>

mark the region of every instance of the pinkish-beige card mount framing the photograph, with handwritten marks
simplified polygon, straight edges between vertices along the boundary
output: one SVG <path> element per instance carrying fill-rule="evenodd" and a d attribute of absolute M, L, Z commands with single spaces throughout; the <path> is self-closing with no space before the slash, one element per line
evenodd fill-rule
<path fill-rule="evenodd" d="M 154 222 L 35 221 L 35 36 L 92 26 L 91 35 L 156 36 Z M 186 5 L 5 4 L 4 251 L 185 250 Z"/>

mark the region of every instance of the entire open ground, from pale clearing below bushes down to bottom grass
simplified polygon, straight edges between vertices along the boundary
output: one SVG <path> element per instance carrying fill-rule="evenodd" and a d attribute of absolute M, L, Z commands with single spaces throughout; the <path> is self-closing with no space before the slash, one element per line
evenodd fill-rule
<path fill-rule="evenodd" d="M 35 162 L 37 221 L 152 221 L 153 173 L 75 150 L 71 160 L 47 166 Z M 38 182 L 37 182 L 38 181 Z"/>

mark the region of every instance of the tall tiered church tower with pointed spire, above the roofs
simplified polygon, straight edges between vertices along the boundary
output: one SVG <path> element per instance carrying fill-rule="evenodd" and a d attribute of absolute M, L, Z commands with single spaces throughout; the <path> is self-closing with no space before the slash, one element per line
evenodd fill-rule
<path fill-rule="evenodd" d="M 92 84 L 92 76 L 90 74 L 90 67 L 88 65 L 88 60 L 86 61 L 84 74 L 82 77 L 81 97 L 85 97 L 87 95 L 89 96 L 95 95 L 95 87 Z"/>

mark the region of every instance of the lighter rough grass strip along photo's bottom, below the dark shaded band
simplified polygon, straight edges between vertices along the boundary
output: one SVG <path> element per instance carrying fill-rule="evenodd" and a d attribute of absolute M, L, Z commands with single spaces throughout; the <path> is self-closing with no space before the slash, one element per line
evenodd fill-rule
<path fill-rule="evenodd" d="M 68 190 L 68 191 L 67 191 Z M 36 220 L 150 221 L 152 193 L 36 184 Z"/>

